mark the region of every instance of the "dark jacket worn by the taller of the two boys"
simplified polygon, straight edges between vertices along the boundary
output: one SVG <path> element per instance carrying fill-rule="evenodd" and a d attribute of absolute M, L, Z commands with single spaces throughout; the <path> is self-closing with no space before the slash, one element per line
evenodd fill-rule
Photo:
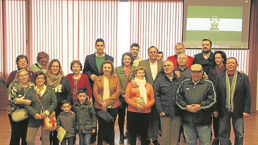
<path fill-rule="evenodd" d="M 97 127 L 96 112 L 94 106 L 86 101 L 80 105 L 79 100 L 73 107 L 73 112 L 76 114 L 75 131 L 77 133 L 91 133 L 92 129 Z"/>

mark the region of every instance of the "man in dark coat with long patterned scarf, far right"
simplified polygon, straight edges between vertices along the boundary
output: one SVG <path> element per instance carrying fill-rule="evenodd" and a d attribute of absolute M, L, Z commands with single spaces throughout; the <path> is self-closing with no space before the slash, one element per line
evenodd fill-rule
<path fill-rule="evenodd" d="M 244 118 L 249 117 L 251 91 L 248 76 L 237 71 L 237 59 L 230 57 L 226 71 L 216 76 L 215 88 L 218 103 L 213 115 L 219 117 L 218 137 L 221 145 L 229 144 L 230 120 L 235 134 L 235 144 L 243 144 Z"/>

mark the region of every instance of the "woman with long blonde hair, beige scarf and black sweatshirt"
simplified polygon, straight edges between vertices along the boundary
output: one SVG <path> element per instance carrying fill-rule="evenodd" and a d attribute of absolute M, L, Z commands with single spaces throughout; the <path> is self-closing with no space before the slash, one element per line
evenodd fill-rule
<path fill-rule="evenodd" d="M 68 79 L 63 75 L 62 67 L 58 59 L 52 59 L 47 70 L 47 86 L 51 86 L 55 90 L 57 98 L 57 107 L 55 108 L 55 116 L 57 117 L 61 110 L 63 100 L 72 100 L 71 87 Z M 71 104 L 72 105 L 72 104 Z M 52 135 L 52 137 L 51 137 Z M 58 145 L 56 130 L 50 132 L 50 144 Z"/>

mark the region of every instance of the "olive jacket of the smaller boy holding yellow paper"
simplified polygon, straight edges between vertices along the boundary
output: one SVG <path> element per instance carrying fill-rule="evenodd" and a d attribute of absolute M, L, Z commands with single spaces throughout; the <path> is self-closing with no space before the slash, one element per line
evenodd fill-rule
<path fill-rule="evenodd" d="M 57 128 L 63 127 L 66 130 L 65 137 L 74 137 L 75 136 L 75 115 L 71 112 L 65 113 L 62 111 L 57 116 Z"/>

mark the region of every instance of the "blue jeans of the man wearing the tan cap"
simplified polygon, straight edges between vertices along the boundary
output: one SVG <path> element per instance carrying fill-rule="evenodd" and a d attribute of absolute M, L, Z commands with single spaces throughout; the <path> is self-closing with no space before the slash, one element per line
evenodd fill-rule
<path fill-rule="evenodd" d="M 200 145 L 210 145 L 211 125 L 197 126 L 184 124 L 184 135 L 187 145 L 197 144 L 197 134 L 199 136 Z"/>

